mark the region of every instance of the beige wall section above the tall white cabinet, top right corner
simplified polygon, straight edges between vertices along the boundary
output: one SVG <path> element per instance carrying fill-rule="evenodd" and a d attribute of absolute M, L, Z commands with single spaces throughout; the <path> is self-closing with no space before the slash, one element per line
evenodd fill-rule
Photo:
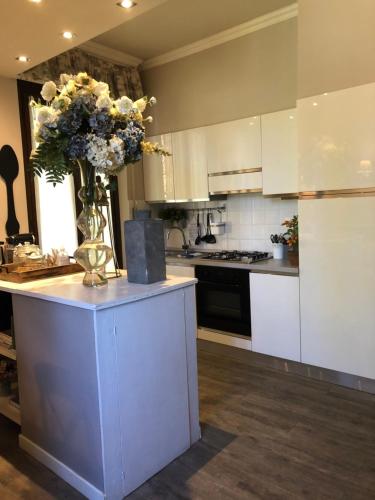
<path fill-rule="evenodd" d="M 299 0 L 298 12 L 298 97 L 375 81 L 375 0 Z"/>

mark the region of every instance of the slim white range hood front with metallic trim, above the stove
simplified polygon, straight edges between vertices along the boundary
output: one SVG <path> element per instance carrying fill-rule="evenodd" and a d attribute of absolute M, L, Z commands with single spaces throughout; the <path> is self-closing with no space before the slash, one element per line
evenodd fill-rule
<path fill-rule="evenodd" d="M 262 172 L 214 175 L 208 178 L 210 194 L 262 191 Z"/>

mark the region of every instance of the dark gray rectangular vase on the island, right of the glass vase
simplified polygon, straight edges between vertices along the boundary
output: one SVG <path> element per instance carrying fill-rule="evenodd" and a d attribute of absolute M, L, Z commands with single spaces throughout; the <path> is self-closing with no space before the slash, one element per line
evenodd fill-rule
<path fill-rule="evenodd" d="M 161 219 L 125 221 L 128 281 L 148 285 L 166 279 L 164 225 Z"/>

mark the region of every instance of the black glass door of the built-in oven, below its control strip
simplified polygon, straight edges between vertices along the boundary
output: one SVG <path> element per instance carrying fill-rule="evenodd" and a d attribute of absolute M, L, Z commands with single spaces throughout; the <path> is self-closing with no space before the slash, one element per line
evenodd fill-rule
<path fill-rule="evenodd" d="M 249 285 L 197 284 L 198 325 L 229 333 L 250 336 Z"/>

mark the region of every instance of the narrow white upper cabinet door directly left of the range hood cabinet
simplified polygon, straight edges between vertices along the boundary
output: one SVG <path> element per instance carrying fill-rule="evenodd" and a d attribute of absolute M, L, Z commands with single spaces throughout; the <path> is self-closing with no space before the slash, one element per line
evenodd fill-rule
<path fill-rule="evenodd" d="M 208 200 L 206 137 L 203 128 L 172 133 L 176 201 Z"/>

